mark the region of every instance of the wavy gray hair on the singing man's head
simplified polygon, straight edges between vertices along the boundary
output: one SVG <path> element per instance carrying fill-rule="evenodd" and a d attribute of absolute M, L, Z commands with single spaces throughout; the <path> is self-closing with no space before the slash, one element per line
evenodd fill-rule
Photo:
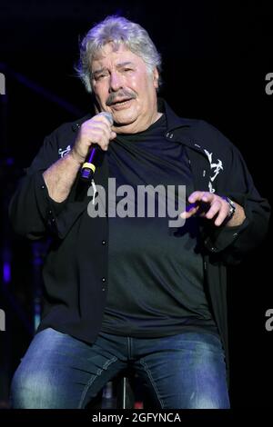
<path fill-rule="evenodd" d="M 91 64 L 96 53 L 104 45 L 112 42 L 114 49 L 124 44 L 134 54 L 140 56 L 147 65 L 147 72 L 152 73 L 157 67 L 161 71 L 161 56 L 150 39 L 147 31 L 140 25 L 133 23 L 122 16 L 111 15 L 86 34 L 80 44 L 80 58 L 76 65 L 77 75 L 91 93 Z M 161 84 L 159 77 L 158 84 Z"/>

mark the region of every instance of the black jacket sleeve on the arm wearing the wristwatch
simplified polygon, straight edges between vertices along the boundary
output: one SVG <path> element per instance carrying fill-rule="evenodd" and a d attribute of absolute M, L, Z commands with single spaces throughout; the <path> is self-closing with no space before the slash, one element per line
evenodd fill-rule
<path fill-rule="evenodd" d="M 227 264 L 237 264 L 266 237 L 270 217 L 268 201 L 258 194 L 248 167 L 238 151 L 218 132 L 218 143 L 225 139 L 226 174 L 217 184 L 217 194 L 227 195 L 240 204 L 246 214 L 238 226 L 205 226 L 204 242 L 207 250 Z M 220 145 L 220 144 L 219 144 Z M 223 146 L 223 145 L 222 145 Z"/>

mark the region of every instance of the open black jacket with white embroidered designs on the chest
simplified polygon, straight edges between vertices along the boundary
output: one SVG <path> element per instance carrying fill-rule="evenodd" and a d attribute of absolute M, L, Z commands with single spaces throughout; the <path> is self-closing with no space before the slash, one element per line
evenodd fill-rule
<path fill-rule="evenodd" d="M 166 138 L 185 144 L 196 190 L 227 195 L 241 204 L 246 220 L 238 227 L 215 227 L 200 220 L 206 290 L 227 351 L 226 266 L 239 263 L 268 230 L 269 205 L 256 190 L 238 149 L 204 121 L 182 119 L 166 103 Z M 30 239 L 51 236 L 43 269 L 45 306 L 38 331 L 51 326 L 87 343 L 100 331 L 107 292 L 107 217 L 90 218 L 86 184 L 78 178 L 65 202 L 48 195 L 42 176 L 74 144 L 81 120 L 63 124 L 45 143 L 27 170 L 10 205 L 15 231 Z M 107 188 L 107 163 L 95 182 Z M 107 192 L 106 192 L 107 193 Z"/>

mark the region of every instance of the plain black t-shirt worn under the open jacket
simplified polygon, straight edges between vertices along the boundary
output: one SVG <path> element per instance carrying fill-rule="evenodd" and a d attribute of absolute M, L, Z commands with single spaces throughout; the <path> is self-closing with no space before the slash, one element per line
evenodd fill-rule
<path fill-rule="evenodd" d="M 106 153 L 116 189 L 130 185 L 135 190 L 122 194 L 126 187 L 121 187 L 113 202 L 117 210 L 116 204 L 121 205 L 126 197 L 127 204 L 117 211 L 127 209 L 130 214 L 108 218 L 108 294 L 101 329 L 106 333 L 157 337 L 204 329 L 217 332 L 204 290 L 197 220 L 190 218 L 184 226 L 170 227 L 170 218 L 158 214 L 157 197 L 155 215 L 146 203 L 144 217 L 137 216 L 139 185 L 161 185 L 161 194 L 162 185 L 166 194 L 174 188 L 170 185 L 176 190 L 186 185 L 187 196 L 193 191 L 183 144 L 167 140 L 166 132 L 163 114 L 145 132 L 118 134 Z"/>

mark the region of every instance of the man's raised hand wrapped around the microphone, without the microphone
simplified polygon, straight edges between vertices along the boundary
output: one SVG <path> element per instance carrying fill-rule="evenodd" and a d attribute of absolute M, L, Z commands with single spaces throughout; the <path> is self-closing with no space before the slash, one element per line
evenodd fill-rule
<path fill-rule="evenodd" d="M 86 120 L 79 128 L 76 142 L 70 154 L 82 164 L 92 144 L 98 144 L 102 150 L 107 150 L 109 141 L 116 138 L 116 133 L 111 130 L 111 124 L 104 114 L 96 114 Z"/>

